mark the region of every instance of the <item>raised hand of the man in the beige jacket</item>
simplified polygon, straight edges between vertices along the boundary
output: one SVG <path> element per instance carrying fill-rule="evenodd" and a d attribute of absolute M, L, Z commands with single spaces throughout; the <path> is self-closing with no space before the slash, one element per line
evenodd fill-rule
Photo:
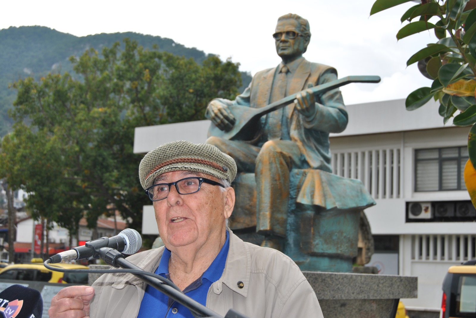
<path fill-rule="evenodd" d="M 50 318 L 89 317 L 89 301 L 93 296 L 94 289 L 90 286 L 65 287 L 51 299 L 48 314 Z"/>

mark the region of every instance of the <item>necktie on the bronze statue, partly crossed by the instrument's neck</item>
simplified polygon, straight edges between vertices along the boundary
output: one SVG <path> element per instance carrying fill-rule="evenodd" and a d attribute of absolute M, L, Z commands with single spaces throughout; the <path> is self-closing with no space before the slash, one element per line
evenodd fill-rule
<path fill-rule="evenodd" d="M 271 100 L 270 103 L 276 102 L 284 97 L 288 93 L 286 88 L 288 86 L 288 81 L 286 78 L 289 69 L 286 65 L 281 67 L 281 70 L 278 73 L 278 76 L 275 78 L 273 87 L 271 90 Z M 283 117 L 283 108 L 279 108 L 274 112 L 268 114 L 268 140 L 276 140 L 281 138 L 281 121 Z"/>

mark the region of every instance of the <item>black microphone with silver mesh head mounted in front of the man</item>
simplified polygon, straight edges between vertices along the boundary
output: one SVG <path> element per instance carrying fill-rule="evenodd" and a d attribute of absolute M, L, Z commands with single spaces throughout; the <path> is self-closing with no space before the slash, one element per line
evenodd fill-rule
<path fill-rule="evenodd" d="M 60 252 L 50 257 L 50 263 L 68 262 L 70 260 L 92 260 L 99 257 L 99 249 L 110 247 L 124 254 L 134 254 L 142 246 L 142 238 L 138 231 L 125 229 L 111 238 L 101 237 L 97 240 L 86 242 L 86 245 L 75 247 L 72 250 Z"/>

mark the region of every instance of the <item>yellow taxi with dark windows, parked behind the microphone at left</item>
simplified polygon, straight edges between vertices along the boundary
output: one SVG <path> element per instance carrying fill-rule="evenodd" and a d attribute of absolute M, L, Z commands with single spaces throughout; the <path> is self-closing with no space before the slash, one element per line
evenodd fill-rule
<path fill-rule="evenodd" d="M 64 269 L 88 269 L 87 266 L 79 264 L 60 263 L 55 265 Z M 0 280 L 2 279 L 87 284 L 88 273 L 62 273 L 60 271 L 52 271 L 47 269 L 43 265 L 43 260 L 41 260 L 41 262 L 8 265 L 0 269 Z"/>

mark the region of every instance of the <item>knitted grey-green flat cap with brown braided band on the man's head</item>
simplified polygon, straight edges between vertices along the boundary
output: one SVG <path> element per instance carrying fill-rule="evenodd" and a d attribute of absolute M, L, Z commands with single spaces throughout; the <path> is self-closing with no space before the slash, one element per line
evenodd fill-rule
<path fill-rule="evenodd" d="M 237 165 L 232 157 L 214 145 L 173 141 L 160 145 L 142 158 L 139 164 L 140 184 L 145 190 L 159 174 L 178 170 L 206 173 L 231 183 L 237 174 Z"/>

